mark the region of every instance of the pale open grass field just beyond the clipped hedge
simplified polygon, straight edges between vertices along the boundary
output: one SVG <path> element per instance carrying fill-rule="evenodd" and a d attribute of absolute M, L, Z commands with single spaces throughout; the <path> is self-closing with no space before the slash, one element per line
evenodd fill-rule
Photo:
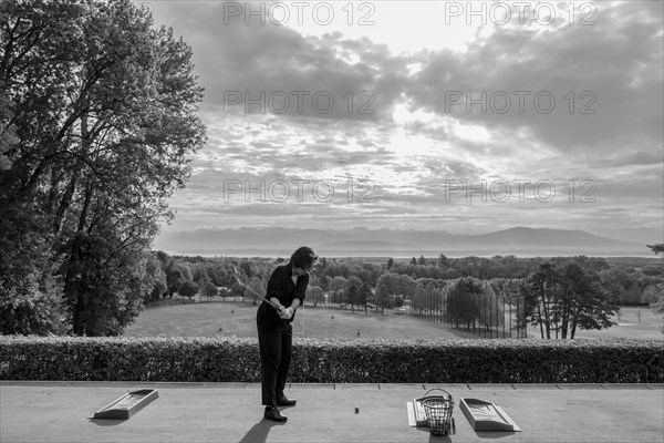
<path fill-rule="evenodd" d="M 214 301 L 151 308 L 141 313 L 126 337 L 256 337 L 256 309 L 251 302 Z M 639 319 L 641 315 L 641 320 Z M 601 331 L 577 331 L 578 339 L 629 338 L 664 340 L 662 317 L 647 308 L 622 308 L 619 324 Z M 312 308 L 298 310 L 295 337 L 346 339 L 455 339 L 476 338 L 409 317 L 385 312 Z M 360 332 L 360 334 L 357 334 Z M 528 337 L 538 339 L 539 329 Z"/>

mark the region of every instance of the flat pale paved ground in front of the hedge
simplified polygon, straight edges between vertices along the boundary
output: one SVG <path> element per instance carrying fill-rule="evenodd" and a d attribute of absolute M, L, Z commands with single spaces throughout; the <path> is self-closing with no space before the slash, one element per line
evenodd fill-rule
<path fill-rule="evenodd" d="M 92 420 L 129 390 L 159 398 L 126 421 Z M 406 402 L 444 388 L 501 406 L 522 432 L 408 426 Z M 0 442 L 649 442 L 664 440 L 662 384 L 292 384 L 286 424 L 262 420 L 259 384 L 0 382 Z M 355 413 L 355 408 L 360 409 Z"/>

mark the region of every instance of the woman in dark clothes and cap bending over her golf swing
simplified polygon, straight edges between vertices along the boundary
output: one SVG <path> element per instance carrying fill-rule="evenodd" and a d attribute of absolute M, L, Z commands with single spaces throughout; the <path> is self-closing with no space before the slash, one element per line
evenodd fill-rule
<path fill-rule="evenodd" d="M 262 302 L 256 316 L 260 349 L 262 404 L 264 418 L 286 422 L 288 418 L 277 406 L 294 406 L 297 401 L 283 393 L 291 361 L 293 328 L 298 307 L 304 302 L 309 271 L 318 257 L 302 246 L 287 265 L 278 266 L 270 276 L 266 298 L 277 306 Z"/>

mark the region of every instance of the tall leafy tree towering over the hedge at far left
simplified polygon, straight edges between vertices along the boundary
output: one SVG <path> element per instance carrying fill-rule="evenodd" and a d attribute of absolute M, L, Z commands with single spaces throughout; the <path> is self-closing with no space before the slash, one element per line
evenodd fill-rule
<path fill-rule="evenodd" d="M 146 253 L 205 141 L 191 50 L 129 0 L 2 9 L 0 207 L 34 215 L 24 238 L 45 239 L 44 257 L 28 268 L 53 272 L 61 289 L 35 290 L 54 311 L 64 301 L 73 332 L 122 333 L 154 289 Z M 23 247 L 0 236 L 3 253 Z M 3 300 L 21 297 L 3 285 Z"/>

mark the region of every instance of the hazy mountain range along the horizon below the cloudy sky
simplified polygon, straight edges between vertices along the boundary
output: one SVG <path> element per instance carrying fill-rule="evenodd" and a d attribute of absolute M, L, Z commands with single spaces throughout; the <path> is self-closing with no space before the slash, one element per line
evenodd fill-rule
<path fill-rule="evenodd" d="M 154 248 L 172 255 L 288 257 L 302 245 L 311 246 L 317 254 L 326 257 L 651 255 L 641 243 L 616 240 L 583 230 L 529 227 L 479 235 L 364 227 L 345 230 L 204 228 L 164 234 Z"/>

